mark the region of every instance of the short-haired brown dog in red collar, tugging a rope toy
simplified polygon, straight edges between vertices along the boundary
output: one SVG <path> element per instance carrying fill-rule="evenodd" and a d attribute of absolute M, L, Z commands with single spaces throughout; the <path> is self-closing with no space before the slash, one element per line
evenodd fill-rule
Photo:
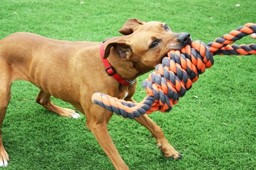
<path fill-rule="evenodd" d="M 119 32 L 124 36 L 109 38 L 104 45 L 102 42 L 52 40 L 32 33 L 14 33 L 3 38 L 0 41 L 0 125 L 10 102 L 12 82 L 24 79 L 40 89 L 36 102 L 49 111 L 68 118 L 80 117 L 76 111 L 52 104 L 52 95 L 85 114 L 86 126 L 113 166 L 128 169 L 108 133 L 107 125 L 113 112 L 93 104 L 91 97 L 93 93 L 101 92 L 135 102 L 132 95 L 136 81 L 131 82 L 153 70 L 169 50 L 179 50 L 191 43 L 191 38 L 188 33 L 173 33 L 165 23 L 138 19 L 127 20 Z M 102 58 L 108 58 L 111 69 L 115 69 L 104 67 L 100 47 L 104 52 Z M 119 76 L 117 81 L 116 75 Z M 156 137 L 157 146 L 165 157 L 180 157 L 165 139 L 161 128 L 146 114 L 135 120 Z M 7 166 L 8 160 L 0 135 L 0 166 Z"/>

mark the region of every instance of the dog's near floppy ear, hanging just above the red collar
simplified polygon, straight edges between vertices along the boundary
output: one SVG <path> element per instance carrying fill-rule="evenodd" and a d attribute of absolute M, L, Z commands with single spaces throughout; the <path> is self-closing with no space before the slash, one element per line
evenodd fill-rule
<path fill-rule="evenodd" d="M 104 59 L 108 58 L 111 47 L 113 47 L 116 52 L 118 52 L 121 59 L 129 59 L 132 55 L 131 45 L 124 40 L 124 38 L 111 38 L 106 42 L 106 48 L 104 52 Z"/>

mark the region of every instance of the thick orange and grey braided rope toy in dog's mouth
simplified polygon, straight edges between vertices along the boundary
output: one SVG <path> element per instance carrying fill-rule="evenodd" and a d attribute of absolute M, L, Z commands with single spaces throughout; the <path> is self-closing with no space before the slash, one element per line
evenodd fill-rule
<path fill-rule="evenodd" d="M 196 40 L 183 49 L 171 50 L 162 63 L 156 66 L 155 71 L 149 74 L 148 79 L 143 81 L 142 86 L 148 94 L 140 103 L 120 100 L 102 93 L 94 93 L 92 101 L 124 118 L 134 119 L 154 111 L 169 112 L 173 104 L 179 101 L 179 97 L 183 97 L 192 83 L 204 73 L 205 68 L 213 65 L 212 56 L 256 54 L 254 43 L 229 45 L 252 33 L 256 33 L 256 24 L 248 23 L 207 45 Z"/>

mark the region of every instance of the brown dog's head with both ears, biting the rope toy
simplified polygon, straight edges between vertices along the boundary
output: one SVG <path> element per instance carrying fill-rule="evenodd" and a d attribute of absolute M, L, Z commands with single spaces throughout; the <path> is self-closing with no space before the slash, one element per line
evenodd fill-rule
<path fill-rule="evenodd" d="M 106 42 L 104 58 L 111 47 L 121 59 L 140 63 L 153 70 L 170 50 L 180 50 L 191 43 L 189 33 L 173 33 L 163 22 L 143 22 L 129 19 L 119 30 L 124 36 L 110 38 Z"/>

